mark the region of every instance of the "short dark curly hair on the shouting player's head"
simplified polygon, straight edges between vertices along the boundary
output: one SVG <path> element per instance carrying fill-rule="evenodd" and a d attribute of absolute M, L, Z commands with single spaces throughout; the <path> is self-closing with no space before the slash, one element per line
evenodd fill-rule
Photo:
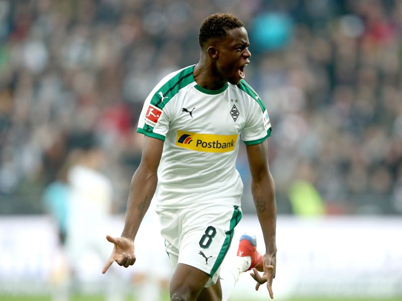
<path fill-rule="evenodd" d="M 207 17 L 199 28 L 198 42 L 201 49 L 210 39 L 225 38 L 228 31 L 244 27 L 243 23 L 231 14 L 214 14 Z"/>

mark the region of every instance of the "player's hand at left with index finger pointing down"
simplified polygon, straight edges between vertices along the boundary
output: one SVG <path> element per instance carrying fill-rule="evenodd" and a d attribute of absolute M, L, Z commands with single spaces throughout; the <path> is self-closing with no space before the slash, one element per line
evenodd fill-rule
<path fill-rule="evenodd" d="M 134 264 L 136 257 L 134 255 L 133 240 L 130 240 L 127 237 L 112 237 L 110 235 L 107 235 L 106 239 L 109 242 L 113 243 L 115 247 L 102 270 L 103 274 L 106 273 L 106 271 L 115 261 L 119 265 L 123 265 L 124 267 L 129 267 L 130 265 Z"/>

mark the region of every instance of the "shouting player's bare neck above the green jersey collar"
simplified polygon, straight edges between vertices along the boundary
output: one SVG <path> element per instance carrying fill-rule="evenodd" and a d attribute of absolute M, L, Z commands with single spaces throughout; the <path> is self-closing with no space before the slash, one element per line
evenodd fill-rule
<path fill-rule="evenodd" d="M 227 83 L 216 71 L 215 66 L 202 58 L 194 66 L 193 76 L 198 86 L 207 90 L 218 90 Z"/>

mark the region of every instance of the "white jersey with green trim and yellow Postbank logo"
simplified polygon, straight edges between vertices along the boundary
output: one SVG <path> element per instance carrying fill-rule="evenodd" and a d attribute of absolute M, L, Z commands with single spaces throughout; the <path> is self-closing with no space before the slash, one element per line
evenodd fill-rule
<path fill-rule="evenodd" d="M 140 115 L 137 131 L 164 141 L 154 201 L 162 208 L 199 202 L 240 206 L 240 139 L 251 145 L 269 137 L 268 113 L 244 80 L 206 90 L 194 81 L 193 68 L 164 77 Z"/>

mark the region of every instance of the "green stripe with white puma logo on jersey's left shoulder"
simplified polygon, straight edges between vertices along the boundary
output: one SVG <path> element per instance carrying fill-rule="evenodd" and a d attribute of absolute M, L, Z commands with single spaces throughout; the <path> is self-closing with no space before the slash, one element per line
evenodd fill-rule
<path fill-rule="evenodd" d="M 169 79 L 160 89 L 152 96 L 151 104 L 163 109 L 163 107 L 178 93 L 181 88 L 184 88 L 188 84 L 194 81 L 192 75 L 192 69 L 194 66 L 189 66 L 171 79 Z"/>

